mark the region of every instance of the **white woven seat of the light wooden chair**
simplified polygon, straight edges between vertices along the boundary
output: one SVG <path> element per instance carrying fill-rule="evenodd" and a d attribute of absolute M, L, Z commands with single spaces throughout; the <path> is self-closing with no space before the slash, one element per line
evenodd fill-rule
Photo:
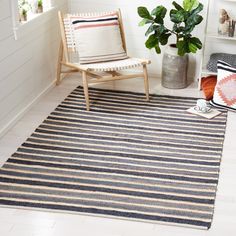
<path fill-rule="evenodd" d="M 135 67 L 140 67 L 145 64 L 149 64 L 149 60 L 145 59 L 138 59 L 138 58 L 128 58 L 125 60 L 118 60 L 118 61 L 110 61 L 110 62 L 104 62 L 104 63 L 93 63 L 93 64 L 87 64 L 87 65 L 81 65 L 78 64 L 78 66 L 87 71 L 119 71 L 119 70 L 125 70 L 125 69 L 131 69 Z"/>

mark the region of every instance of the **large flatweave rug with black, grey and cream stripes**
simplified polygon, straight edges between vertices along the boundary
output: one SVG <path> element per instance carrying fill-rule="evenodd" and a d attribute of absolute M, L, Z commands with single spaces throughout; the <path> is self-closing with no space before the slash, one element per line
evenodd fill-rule
<path fill-rule="evenodd" d="M 227 113 L 193 98 L 75 89 L 0 169 L 0 204 L 208 229 Z"/>

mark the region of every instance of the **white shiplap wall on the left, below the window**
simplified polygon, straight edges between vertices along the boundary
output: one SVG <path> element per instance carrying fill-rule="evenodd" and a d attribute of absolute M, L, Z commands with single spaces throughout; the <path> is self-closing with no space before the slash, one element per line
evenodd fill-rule
<path fill-rule="evenodd" d="M 67 10 L 66 0 L 55 7 Z M 9 0 L 0 0 L 0 136 L 55 80 L 59 45 L 57 11 L 30 22 L 14 39 Z"/>

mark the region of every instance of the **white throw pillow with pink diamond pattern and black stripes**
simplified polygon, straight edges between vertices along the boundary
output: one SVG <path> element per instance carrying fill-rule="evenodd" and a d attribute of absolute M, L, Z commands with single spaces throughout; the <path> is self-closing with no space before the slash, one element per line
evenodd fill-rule
<path fill-rule="evenodd" d="M 236 68 L 218 61 L 217 84 L 211 104 L 236 111 Z"/>

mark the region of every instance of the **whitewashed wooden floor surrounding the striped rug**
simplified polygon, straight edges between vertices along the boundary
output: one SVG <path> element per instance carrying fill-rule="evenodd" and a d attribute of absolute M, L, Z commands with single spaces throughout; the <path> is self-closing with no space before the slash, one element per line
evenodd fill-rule
<path fill-rule="evenodd" d="M 68 78 L 44 96 L 2 139 L 0 165 L 76 87 Z M 199 97 L 196 88 L 168 90 L 152 79 L 151 92 Z M 100 85 L 101 87 L 101 85 Z M 117 81 L 103 88 L 141 91 L 142 80 Z M 234 236 L 236 235 L 236 113 L 229 113 L 220 183 L 212 228 L 209 231 L 64 213 L 0 208 L 1 236 Z"/>

